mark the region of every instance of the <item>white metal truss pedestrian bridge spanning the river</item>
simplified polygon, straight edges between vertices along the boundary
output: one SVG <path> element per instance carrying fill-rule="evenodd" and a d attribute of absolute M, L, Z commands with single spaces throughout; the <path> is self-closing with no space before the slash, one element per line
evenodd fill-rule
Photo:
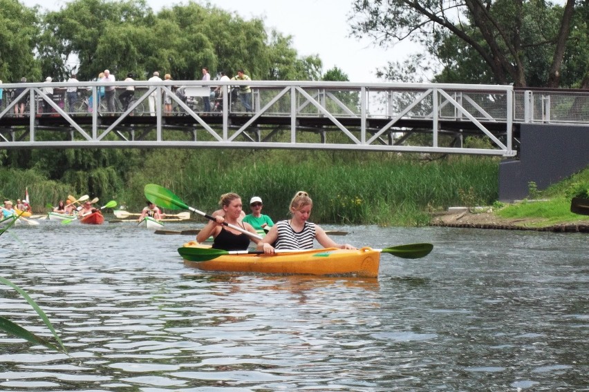
<path fill-rule="evenodd" d="M 251 92 L 238 94 L 246 85 Z M 583 90 L 319 81 L 0 86 L 0 148 L 6 149 L 303 148 L 514 157 L 521 124 L 589 124 Z M 220 95 L 211 95 L 217 87 Z M 104 88 L 111 91 L 103 96 Z"/>

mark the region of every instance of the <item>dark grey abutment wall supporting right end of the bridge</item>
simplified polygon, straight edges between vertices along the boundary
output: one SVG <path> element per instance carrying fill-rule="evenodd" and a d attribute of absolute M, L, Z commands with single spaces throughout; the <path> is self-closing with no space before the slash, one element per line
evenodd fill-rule
<path fill-rule="evenodd" d="M 527 197 L 528 183 L 539 190 L 589 165 L 589 127 L 521 124 L 519 159 L 499 165 L 499 201 Z"/>

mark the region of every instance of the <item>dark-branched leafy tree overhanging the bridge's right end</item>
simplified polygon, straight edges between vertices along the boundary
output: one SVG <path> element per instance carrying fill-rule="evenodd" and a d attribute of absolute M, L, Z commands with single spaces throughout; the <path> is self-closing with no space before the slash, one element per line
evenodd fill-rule
<path fill-rule="evenodd" d="M 356 36 L 369 35 L 382 46 L 421 43 L 441 55 L 450 79 L 476 70 L 475 76 L 492 76 L 498 84 L 529 86 L 535 78 L 534 85 L 556 87 L 574 57 L 567 48 L 572 23 L 581 23 L 575 12 L 586 7 L 575 7 L 574 0 L 564 7 L 541 0 L 355 0 L 351 20 Z M 455 72 L 460 66 L 466 72 Z M 532 72 L 533 66 L 542 69 Z"/>

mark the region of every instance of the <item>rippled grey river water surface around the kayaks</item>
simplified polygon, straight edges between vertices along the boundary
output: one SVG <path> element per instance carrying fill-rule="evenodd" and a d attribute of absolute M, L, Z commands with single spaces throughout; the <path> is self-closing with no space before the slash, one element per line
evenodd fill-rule
<path fill-rule="evenodd" d="M 189 226 L 168 225 L 180 230 Z M 2 391 L 588 391 L 589 237 L 327 226 L 384 248 L 377 279 L 185 268 L 192 239 L 43 222 L 1 237 L 0 273 L 71 357 L 0 333 Z M 49 336 L 15 291 L 0 315 Z"/>

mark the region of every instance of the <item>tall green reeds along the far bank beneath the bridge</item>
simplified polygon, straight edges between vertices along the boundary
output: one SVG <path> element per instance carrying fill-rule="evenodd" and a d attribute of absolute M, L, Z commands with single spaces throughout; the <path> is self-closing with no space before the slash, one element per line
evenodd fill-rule
<path fill-rule="evenodd" d="M 114 184 L 116 190 L 95 196 L 116 199 L 129 210 L 138 210 L 145 203 L 143 187 L 155 183 L 172 190 L 189 206 L 212 212 L 221 194 L 236 192 L 248 213 L 247 203 L 257 195 L 264 200 L 263 212 L 279 220 L 288 218 L 292 195 L 306 190 L 315 203 L 313 222 L 382 226 L 425 225 L 431 211 L 460 204 L 460 190 L 472 188 L 477 204 L 488 205 L 497 199 L 496 158 L 426 158 L 334 151 L 154 150 L 145 155 L 141 167 L 126 174 L 120 188 L 107 170 L 109 175 L 101 181 Z M 15 171 L 0 169 L 0 180 L 18 177 L 0 183 L 0 190 L 14 198 L 28 185 L 29 192 L 33 189 L 35 193 L 33 201 L 41 206 L 72 194 L 72 189 L 78 189 L 73 193 L 76 197 L 88 193 L 77 188 L 79 179 L 72 179 L 68 186 L 40 175 L 11 173 Z"/>

